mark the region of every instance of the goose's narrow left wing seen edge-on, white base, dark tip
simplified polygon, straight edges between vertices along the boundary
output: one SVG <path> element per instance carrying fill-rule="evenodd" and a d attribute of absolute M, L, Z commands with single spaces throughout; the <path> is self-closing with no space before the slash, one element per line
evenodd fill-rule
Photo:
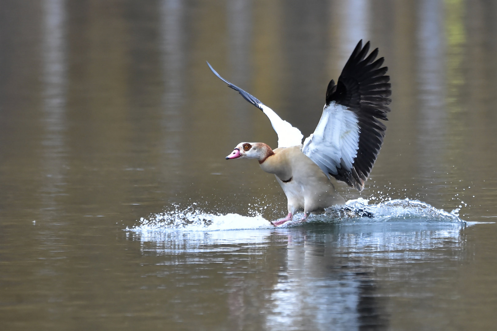
<path fill-rule="evenodd" d="M 269 121 L 271 121 L 271 125 L 273 126 L 274 131 L 278 135 L 278 147 L 298 146 L 302 143 L 302 138 L 304 136 L 299 129 L 294 128 L 290 123 L 283 121 L 278 115 L 276 115 L 275 112 L 273 112 L 271 108 L 264 105 L 257 98 L 221 77 L 219 73 L 217 73 L 216 70 L 214 70 L 214 68 L 208 62 L 207 65 L 212 70 L 212 72 L 214 72 L 216 76 L 227 83 L 229 87 L 238 91 L 245 100 L 250 102 L 255 107 L 259 108 L 264 114 L 266 114 L 267 118 L 269 118 Z"/>

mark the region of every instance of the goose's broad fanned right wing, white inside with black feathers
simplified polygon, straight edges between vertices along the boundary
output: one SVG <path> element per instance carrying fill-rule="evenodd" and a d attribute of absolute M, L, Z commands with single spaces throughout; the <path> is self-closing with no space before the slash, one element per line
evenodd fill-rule
<path fill-rule="evenodd" d="M 384 58 L 375 61 L 378 49 L 366 57 L 368 51 L 369 42 L 363 48 L 359 41 L 336 85 L 330 81 L 321 120 L 302 148 L 326 174 L 359 191 L 383 144 L 386 127 L 378 119 L 388 121 L 392 101 Z"/>

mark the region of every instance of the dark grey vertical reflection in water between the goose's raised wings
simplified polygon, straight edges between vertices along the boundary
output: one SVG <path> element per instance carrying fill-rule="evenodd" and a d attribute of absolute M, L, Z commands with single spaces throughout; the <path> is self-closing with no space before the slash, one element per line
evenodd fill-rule
<path fill-rule="evenodd" d="M 289 1 L 283 6 L 283 57 L 286 91 L 278 115 L 309 136 L 316 128 L 325 102 L 328 13 L 326 1 Z M 325 83 L 326 82 L 326 83 Z"/>

